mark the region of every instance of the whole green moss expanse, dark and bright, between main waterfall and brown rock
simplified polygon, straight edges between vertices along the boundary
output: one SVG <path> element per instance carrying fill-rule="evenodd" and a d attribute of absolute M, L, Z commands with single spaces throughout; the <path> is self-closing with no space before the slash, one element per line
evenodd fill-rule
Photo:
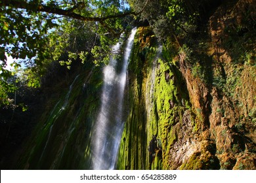
<path fill-rule="evenodd" d="M 135 36 L 129 63 L 129 115 L 123 131 L 119 150 L 119 169 L 170 169 L 169 151 L 178 140 L 179 128 L 184 111 L 190 107 L 188 92 L 184 90 L 182 74 L 175 66 L 175 51 L 171 44 L 163 45 L 163 58 L 158 59 L 154 83 L 154 98 L 150 98 L 152 86 L 152 63 L 156 59 L 156 48 L 148 45 L 140 37 L 142 30 Z M 148 106 L 146 106 L 148 105 Z M 143 131 L 139 131 L 143 127 Z M 158 139 L 152 162 L 147 149 L 152 135 Z M 125 139 L 125 141 L 124 141 Z M 138 152 L 140 150 L 140 152 Z M 158 154 L 157 152 L 161 152 Z M 154 152 L 152 152 L 154 154 Z M 141 156 L 146 155 L 145 156 Z M 142 166 L 141 164 L 144 163 Z"/>

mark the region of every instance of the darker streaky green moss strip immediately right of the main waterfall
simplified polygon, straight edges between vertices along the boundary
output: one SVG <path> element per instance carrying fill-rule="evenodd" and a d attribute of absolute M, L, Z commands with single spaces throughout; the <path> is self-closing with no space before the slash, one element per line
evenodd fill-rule
<path fill-rule="evenodd" d="M 155 105 L 146 111 L 147 77 L 152 75 L 152 62 L 156 56 L 154 37 L 150 29 L 142 27 L 135 35 L 129 63 L 129 110 L 119 149 L 118 169 L 150 169 L 148 135 L 158 133 L 158 116 Z M 149 112 L 150 122 L 147 122 Z"/>

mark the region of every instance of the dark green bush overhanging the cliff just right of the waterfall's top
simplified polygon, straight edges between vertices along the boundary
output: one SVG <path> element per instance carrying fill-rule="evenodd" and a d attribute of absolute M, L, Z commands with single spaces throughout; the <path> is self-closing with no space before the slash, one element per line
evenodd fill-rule
<path fill-rule="evenodd" d="M 184 35 L 195 30 L 198 11 L 194 3 L 184 0 L 152 0 L 140 18 L 149 22 L 160 41 L 166 41 L 170 35 Z M 129 0 L 129 4 L 135 10 L 144 5 L 143 1 L 136 0 Z"/>

